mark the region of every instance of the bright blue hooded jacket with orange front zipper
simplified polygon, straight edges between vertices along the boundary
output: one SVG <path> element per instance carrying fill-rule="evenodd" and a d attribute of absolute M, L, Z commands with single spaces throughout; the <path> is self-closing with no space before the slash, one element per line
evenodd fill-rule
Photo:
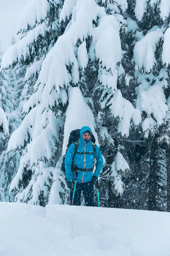
<path fill-rule="evenodd" d="M 83 133 L 85 131 L 89 130 L 92 134 L 91 129 L 88 126 L 83 126 L 80 130 L 80 139 L 78 141 L 79 145 L 78 145 L 78 150 L 77 152 L 93 152 L 93 147 L 92 147 L 92 143 L 91 143 L 91 139 L 86 142 L 83 139 Z M 65 156 L 65 174 L 66 174 L 66 179 L 67 181 L 72 181 L 75 180 L 75 173 L 73 173 L 73 171 L 71 171 L 71 164 L 72 164 L 72 160 L 73 160 L 73 155 L 74 155 L 74 150 L 75 150 L 75 144 L 72 143 L 66 153 Z M 96 145 L 96 150 L 95 150 L 95 154 L 91 155 L 91 154 L 76 154 L 74 157 L 74 164 L 77 165 L 77 167 L 81 168 L 81 169 L 91 169 L 93 167 L 93 158 L 95 157 L 96 159 L 96 169 L 94 171 L 94 175 L 96 177 L 98 177 L 100 175 L 100 172 L 102 170 L 103 167 L 103 158 L 102 158 L 102 154 L 100 151 L 100 148 Z M 88 182 L 92 179 L 93 176 L 93 172 L 92 171 L 78 171 L 78 178 L 77 178 L 77 182 Z"/>

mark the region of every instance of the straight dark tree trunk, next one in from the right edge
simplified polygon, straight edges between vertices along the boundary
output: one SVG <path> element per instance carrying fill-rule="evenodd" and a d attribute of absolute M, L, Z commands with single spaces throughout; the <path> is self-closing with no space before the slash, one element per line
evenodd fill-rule
<path fill-rule="evenodd" d="M 157 188 L 157 161 L 158 161 L 158 143 L 155 137 L 150 149 L 150 174 L 149 174 L 149 202 L 148 210 L 155 211 L 156 207 L 156 188 Z"/>

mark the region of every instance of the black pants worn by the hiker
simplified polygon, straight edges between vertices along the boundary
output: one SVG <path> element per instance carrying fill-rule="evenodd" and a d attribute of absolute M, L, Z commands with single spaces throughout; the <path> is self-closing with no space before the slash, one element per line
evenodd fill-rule
<path fill-rule="evenodd" d="M 76 190 L 75 190 L 73 205 L 80 205 L 81 190 L 83 191 L 83 196 L 84 196 L 86 206 L 95 206 L 93 183 L 91 181 L 84 182 L 84 183 L 80 183 L 80 182 L 76 183 Z M 70 191 L 71 202 L 72 202 L 72 198 L 73 198 L 73 191 Z"/>

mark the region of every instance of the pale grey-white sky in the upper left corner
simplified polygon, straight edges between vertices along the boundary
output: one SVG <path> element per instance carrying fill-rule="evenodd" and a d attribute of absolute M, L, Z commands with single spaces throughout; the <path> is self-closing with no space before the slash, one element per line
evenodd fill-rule
<path fill-rule="evenodd" d="M 11 38 L 17 34 L 18 19 L 30 0 L 0 0 L 0 42 L 1 50 L 6 52 Z"/>

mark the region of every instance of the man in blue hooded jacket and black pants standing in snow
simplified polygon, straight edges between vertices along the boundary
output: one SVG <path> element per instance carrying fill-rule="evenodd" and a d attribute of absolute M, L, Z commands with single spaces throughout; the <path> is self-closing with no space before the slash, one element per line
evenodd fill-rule
<path fill-rule="evenodd" d="M 83 192 L 86 206 L 94 206 L 93 201 L 93 184 L 98 179 L 103 167 L 103 158 L 100 148 L 95 145 L 95 153 L 91 143 L 92 131 L 89 127 L 84 126 L 80 130 L 80 139 L 78 141 L 77 153 L 75 152 L 75 143 L 72 143 L 65 156 L 65 174 L 67 186 L 70 188 L 70 199 L 72 201 L 74 184 L 77 176 L 76 191 L 74 196 L 74 205 L 80 205 L 81 191 Z M 90 154 L 89 154 L 90 153 Z M 94 154 L 93 154 L 94 153 Z M 74 170 L 72 161 L 74 157 Z M 95 171 L 93 174 L 94 158 L 96 159 Z M 76 166 L 76 168 L 75 168 Z"/>

